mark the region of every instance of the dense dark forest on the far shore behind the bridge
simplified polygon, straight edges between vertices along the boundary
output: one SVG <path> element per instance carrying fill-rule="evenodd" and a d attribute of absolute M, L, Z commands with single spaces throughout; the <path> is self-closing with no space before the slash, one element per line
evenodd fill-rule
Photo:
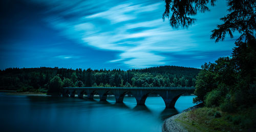
<path fill-rule="evenodd" d="M 159 66 L 131 70 L 7 68 L 0 71 L 0 89 L 17 92 L 59 92 L 61 87 L 195 87 L 197 68 Z"/>

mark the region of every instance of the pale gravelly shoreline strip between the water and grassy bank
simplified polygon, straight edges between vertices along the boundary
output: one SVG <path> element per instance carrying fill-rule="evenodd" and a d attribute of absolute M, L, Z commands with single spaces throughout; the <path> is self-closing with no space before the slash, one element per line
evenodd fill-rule
<path fill-rule="evenodd" d="M 162 125 L 162 132 L 170 132 L 170 131 L 182 131 L 187 132 L 188 130 L 184 128 L 179 122 L 175 121 L 183 112 L 191 111 L 197 108 L 202 107 L 202 104 L 199 103 L 194 107 L 190 107 L 188 109 L 183 110 L 181 113 L 171 116 L 164 120 Z"/>

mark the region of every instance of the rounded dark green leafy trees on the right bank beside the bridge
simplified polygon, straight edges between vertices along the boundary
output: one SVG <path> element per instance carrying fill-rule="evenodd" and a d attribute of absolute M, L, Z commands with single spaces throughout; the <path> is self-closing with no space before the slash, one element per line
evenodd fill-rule
<path fill-rule="evenodd" d="M 207 107 L 220 106 L 225 112 L 255 103 L 255 68 L 242 68 L 235 59 L 219 58 L 216 63 L 202 66 L 197 76 L 194 102 L 203 102 Z"/>

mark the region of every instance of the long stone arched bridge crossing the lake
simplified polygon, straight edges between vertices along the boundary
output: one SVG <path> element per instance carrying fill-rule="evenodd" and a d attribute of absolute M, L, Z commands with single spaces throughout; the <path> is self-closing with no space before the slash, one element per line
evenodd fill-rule
<path fill-rule="evenodd" d="M 65 87 L 62 88 L 62 96 L 79 98 L 87 95 L 93 99 L 94 95 L 99 95 L 100 101 L 106 101 L 108 95 L 114 95 L 117 103 L 122 103 L 126 94 L 131 94 L 136 98 L 137 105 L 145 105 L 145 100 L 149 94 L 155 93 L 163 98 L 166 108 L 174 108 L 177 99 L 182 94 L 193 94 L 194 87 Z"/>

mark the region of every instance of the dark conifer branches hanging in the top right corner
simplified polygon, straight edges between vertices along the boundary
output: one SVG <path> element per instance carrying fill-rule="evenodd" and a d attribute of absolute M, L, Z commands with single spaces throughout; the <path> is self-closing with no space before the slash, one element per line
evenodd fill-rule
<path fill-rule="evenodd" d="M 230 13 L 221 18 L 224 23 L 217 25 L 217 29 L 212 31 L 211 39 L 215 39 L 218 42 L 224 40 L 226 34 L 229 34 L 232 38 L 232 32 L 235 31 L 241 34 L 238 41 L 245 39 L 247 42 L 252 38 L 255 39 L 256 1 L 228 0 L 227 3 Z"/>

